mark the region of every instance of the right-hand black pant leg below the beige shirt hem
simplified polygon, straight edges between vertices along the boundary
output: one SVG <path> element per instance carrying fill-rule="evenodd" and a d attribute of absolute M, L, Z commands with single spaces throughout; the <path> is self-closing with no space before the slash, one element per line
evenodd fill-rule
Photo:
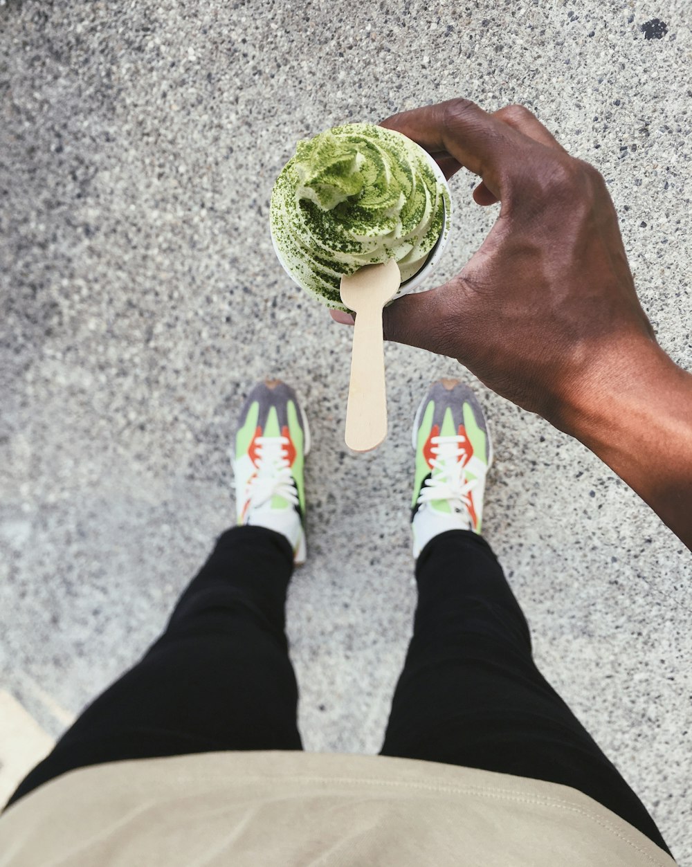
<path fill-rule="evenodd" d="M 432 539 L 382 754 L 571 786 L 668 851 L 637 795 L 532 659 L 526 619 L 485 540 Z"/>

